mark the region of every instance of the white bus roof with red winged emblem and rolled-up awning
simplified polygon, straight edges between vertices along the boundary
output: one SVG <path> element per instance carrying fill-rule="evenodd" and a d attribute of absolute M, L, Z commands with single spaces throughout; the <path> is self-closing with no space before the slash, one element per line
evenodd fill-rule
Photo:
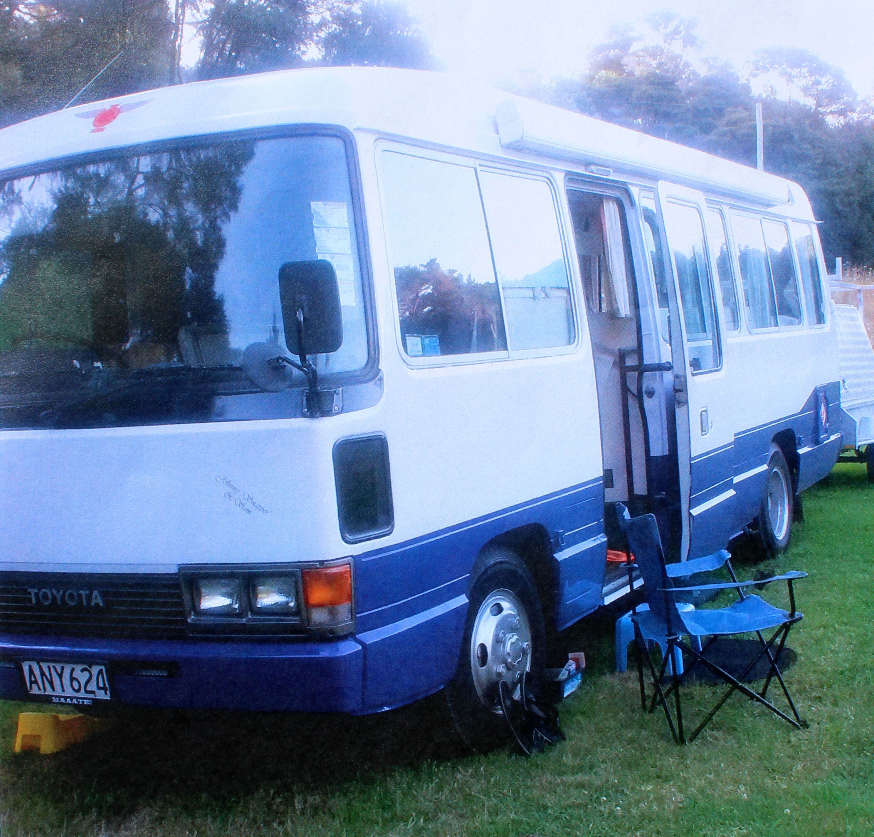
<path fill-rule="evenodd" d="M 89 102 L 0 131 L 0 171 L 175 137 L 301 123 L 503 157 L 558 158 L 597 167 L 595 173 L 672 180 L 811 217 L 801 187 L 773 174 L 447 74 L 384 67 L 258 73 Z"/>

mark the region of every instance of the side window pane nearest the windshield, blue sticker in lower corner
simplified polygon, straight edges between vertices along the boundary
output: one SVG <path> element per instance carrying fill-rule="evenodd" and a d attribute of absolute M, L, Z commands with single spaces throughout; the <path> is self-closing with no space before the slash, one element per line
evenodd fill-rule
<path fill-rule="evenodd" d="M 506 351 L 475 170 L 393 151 L 382 169 L 406 354 Z"/>

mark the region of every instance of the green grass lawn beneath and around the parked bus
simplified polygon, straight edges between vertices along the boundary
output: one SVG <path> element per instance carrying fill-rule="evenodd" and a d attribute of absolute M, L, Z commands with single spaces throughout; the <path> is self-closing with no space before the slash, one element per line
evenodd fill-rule
<path fill-rule="evenodd" d="M 463 753 L 440 695 L 366 718 L 143 712 L 50 757 L 12 755 L 22 707 L 0 702 L 0 832 L 874 834 L 874 487 L 841 465 L 804 499 L 806 522 L 766 568 L 810 573 L 787 672 L 809 729 L 736 695 L 676 747 L 663 715 L 641 713 L 636 673 L 614 673 L 611 624 L 594 617 L 569 642 L 589 670 L 562 707 L 568 740 L 531 759 Z M 685 694 L 691 722 L 717 693 Z"/>

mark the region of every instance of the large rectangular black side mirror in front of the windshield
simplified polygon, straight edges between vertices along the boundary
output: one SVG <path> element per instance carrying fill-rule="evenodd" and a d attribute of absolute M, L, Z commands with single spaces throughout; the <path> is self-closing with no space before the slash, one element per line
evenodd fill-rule
<path fill-rule="evenodd" d="M 343 315 L 334 265 L 325 259 L 286 262 L 279 269 L 279 298 L 289 352 L 304 359 L 340 348 Z"/>

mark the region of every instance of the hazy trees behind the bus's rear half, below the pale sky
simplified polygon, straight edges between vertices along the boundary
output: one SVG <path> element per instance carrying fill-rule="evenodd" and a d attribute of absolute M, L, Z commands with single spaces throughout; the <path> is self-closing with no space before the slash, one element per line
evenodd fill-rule
<path fill-rule="evenodd" d="M 683 55 L 694 25 L 659 14 L 650 25 L 661 43 L 631 27 L 611 33 L 591 53 L 579 79 L 538 91 L 561 107 L 642 130 L 739 163 L 755 164 L 755 104 L 749 82 L 711 62 L 698 72 Z M 765 115 L 767 171 L 800 183 L 822 220 L 829 262 L 874 264 L 874 120 L 843 73 L 800 50 L 761 52 L 753 76 L 778 73 L 798 95 L 770 96 Z"/>

